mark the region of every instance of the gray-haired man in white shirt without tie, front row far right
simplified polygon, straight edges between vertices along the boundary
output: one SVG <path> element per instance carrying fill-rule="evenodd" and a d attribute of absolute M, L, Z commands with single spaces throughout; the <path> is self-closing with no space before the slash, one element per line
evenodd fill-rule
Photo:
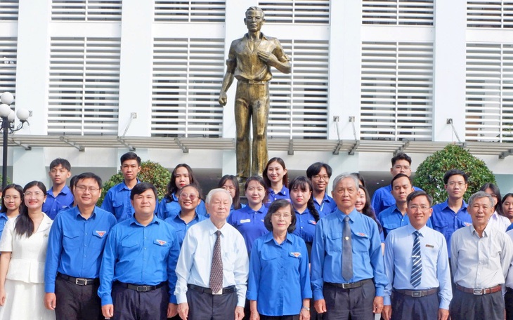
<path fill-rule="evenodd" d="M 467 212 L 472 225 L 457 229 L 450 241 L 450 265 L 456 287 L 450 318 L 504 319 L 502 286 L 513 258 L 512 240 L 488 224 L 493 214 L 490 194 L 472 194 Z"/>

